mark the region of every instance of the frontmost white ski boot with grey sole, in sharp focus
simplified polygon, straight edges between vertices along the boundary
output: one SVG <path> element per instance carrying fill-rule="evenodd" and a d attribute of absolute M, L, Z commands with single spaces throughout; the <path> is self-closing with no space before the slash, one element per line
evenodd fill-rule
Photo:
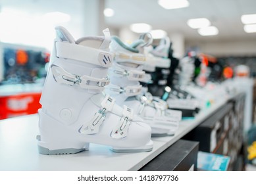
<path fill-rule="evenodd" d="M 40 103 L 38 147 L 41 154 L 74 154 L 90 143 L 115 152 L 143 152 L 153 147 L 151 128 L 132 109 L 105 95 L 109 84 L 109 30 L 103 36 L 74 40 L 55 28 L 51 61 Z"/>

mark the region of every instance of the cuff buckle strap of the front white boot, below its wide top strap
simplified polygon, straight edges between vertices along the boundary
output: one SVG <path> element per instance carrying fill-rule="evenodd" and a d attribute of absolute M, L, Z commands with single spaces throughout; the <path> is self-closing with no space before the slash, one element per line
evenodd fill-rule
<path fill-rule="evenodd" d="M 66 85 L 78 84 L 83 89 L 99 89 L 103 90 L 106 85 L 109 85 L 109 78 L 93 78 L 91 76 L 78 76 L 75 74 L 70 74 L 61 66 L 52 64 L 51 71 L 53 73 L 53 78 L 57 83 L 63 83 Z"/>

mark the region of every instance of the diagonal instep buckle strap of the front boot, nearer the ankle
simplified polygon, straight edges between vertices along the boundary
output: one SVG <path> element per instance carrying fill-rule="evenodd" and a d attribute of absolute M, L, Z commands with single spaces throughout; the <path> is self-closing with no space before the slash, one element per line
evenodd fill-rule
<path fill-rule="evenodd" d="M 111 111 L 113 109 L 113 106 L 115 104 L 115 99 L 109 97 L 109 95 L 106 95 L 105 99 L 101 102 L 101 108 L 98 112 L 96 112 L 89 120 L 86 122 L 80 129 L 78 130 L 80 133 L 83 134 L 95 134 L 99 132 L 99 127 L 101 124 L 103 124 L 107 112 Z"/>

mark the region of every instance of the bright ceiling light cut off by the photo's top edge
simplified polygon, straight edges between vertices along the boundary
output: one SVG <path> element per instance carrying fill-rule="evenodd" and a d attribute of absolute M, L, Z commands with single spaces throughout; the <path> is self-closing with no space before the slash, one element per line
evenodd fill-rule
<path fill-rule="evenodd" d="M 158 4 L 164 9 L 181 9 L 190 5 L 187 0 L 158 0 Z"/>

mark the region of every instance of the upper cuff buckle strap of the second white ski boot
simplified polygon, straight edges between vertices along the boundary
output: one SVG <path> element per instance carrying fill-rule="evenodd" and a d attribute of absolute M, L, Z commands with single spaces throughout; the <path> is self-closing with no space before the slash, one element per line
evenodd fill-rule
<path fill-rule="evenodd" d="M 145 78 L 144 71 L 137 71 L 137 70 L 124 70 L 120 67 L 115 66 L 115 68 L 110 68 L 110 72 L 113 73 L 116 77 L 127 77 L 128 80 L 131 81 L 141 81 Z"/>

